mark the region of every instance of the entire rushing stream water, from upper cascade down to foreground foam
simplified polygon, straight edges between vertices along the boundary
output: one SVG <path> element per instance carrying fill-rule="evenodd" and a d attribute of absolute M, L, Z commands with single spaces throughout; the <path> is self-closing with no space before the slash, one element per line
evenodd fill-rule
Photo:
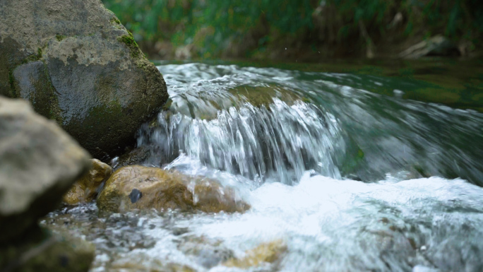
<path fill-rule="evenodd" d="M 170 101 L 140 130 L 141 163 L 217 179 L 251 209 L 51 213 L 96 244 L 93 271 L 483 271 L 483 114 L 403 100 L 403 82 L 365 90 L 397 78 L 158 69 Z M 273 241 L 277 261 L 224 263 Z"/>

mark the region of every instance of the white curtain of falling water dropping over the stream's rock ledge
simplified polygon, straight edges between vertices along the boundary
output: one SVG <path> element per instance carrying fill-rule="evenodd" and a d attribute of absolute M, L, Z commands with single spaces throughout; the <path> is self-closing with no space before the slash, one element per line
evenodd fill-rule
<path fill-rule="evenodd" d="M 273 101 L 268 107 L 246 102 L 219 110 L 211 120 L 162 112 L 157 126 L 143 128 L 138 146 L 150 146 L 151 164 L 185 153 L 257 182 L 292 184 L 311 169 L 340 178 L 335 150 L 345 150 L 345 144 L 335 117 L 300 100 Z"/>

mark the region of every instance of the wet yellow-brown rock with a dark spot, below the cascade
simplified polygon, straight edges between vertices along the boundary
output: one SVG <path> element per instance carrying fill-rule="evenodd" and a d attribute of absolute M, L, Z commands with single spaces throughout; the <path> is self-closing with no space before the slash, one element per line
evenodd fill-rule
<path fill-rule="evenodd" d="M 97 198 L 101 211 L 131 209 L 180 209 L 217 213 L 243 212 L 250 206 L 237 199 L 236 191 L 212 179 L 139 165 L 114 172 Z"/>

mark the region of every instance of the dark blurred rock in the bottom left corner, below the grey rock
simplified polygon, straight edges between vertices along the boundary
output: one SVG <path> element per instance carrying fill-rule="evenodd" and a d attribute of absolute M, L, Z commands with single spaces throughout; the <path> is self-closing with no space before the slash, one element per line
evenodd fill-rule
<path fill-rule="evenodd" d="M 0 246 L 0 270 L 22 272 L 86 272 L 95 247 L 80 238 L 33 230 L 24 240 Z"/>

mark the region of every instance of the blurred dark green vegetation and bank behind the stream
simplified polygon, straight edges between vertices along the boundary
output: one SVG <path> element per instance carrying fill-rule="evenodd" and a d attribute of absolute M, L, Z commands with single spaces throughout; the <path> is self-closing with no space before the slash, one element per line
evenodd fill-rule
<path fill-rule="evenodd" d="M 154 58 L 386 57 L 434 35 L 482 49 L 479 0 L 102 1 Z"/>

